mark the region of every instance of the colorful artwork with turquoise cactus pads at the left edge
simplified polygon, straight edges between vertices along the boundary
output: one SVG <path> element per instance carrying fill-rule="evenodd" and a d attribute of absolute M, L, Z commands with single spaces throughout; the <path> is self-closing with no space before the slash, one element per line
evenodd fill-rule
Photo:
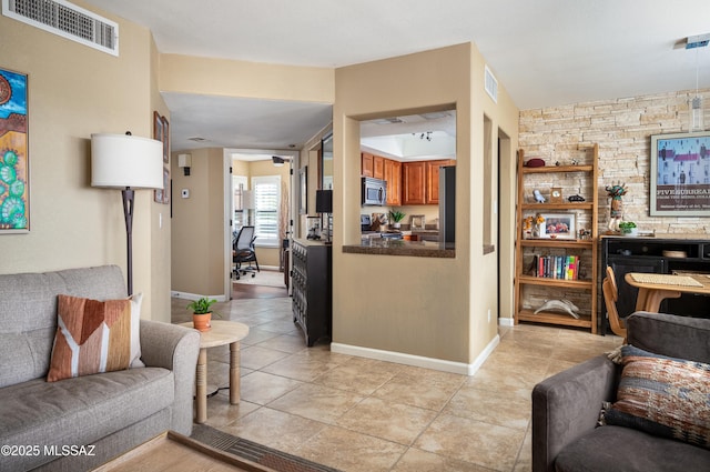
<path fill-rule="evenodd" d="M 0 234 L 30 231 L 27 74 L 0 68 Z"/>

